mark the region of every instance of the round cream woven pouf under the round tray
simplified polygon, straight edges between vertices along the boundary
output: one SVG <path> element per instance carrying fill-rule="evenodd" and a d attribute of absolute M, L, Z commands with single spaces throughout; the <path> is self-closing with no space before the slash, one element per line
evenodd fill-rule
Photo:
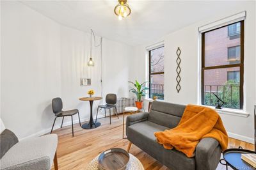
<path fill-rule="evenodd" d="M 131 153 L 129 153 L 130 159 L 126 166 L 126 170 L 144 170 L 143 165 L 141 164 L 140 160 L 138 158 L 134 157 Z M 86 167 L 86 170 L 98 170 L 98 158 L 99 155 L 88 164 Z"/>

